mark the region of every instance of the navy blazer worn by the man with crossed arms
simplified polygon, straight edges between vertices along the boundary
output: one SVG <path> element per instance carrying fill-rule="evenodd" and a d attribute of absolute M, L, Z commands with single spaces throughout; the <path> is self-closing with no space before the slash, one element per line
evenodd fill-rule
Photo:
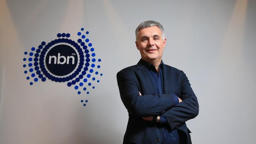
<path fill-rule="evenodd" d="M 137 65 L 117 73 L 120 96 L 129 114 L 123 143 L 161 144 L 163 124 L 149 122 L 142 117 L 164 113 L 171 129 L 178 129 L 182 144 L 191 144 L 191 132 L 185 122 L 198 115 L 198 102 L 186 74 L 163 64 L 164 94 L 157 94 L 150 74 L 142 63 L 140 60 Z M 175 105 L 173 94 L 182 102 Z"/>

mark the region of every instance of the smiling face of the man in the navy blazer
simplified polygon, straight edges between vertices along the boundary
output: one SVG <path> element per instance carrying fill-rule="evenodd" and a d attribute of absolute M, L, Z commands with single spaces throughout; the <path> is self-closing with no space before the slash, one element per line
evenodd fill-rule
<path fill-rule="evenodd" d="M 161 61 L 166 39 L 163 39 L 161 30 L 157 26 L 140 30 L 135 43 L 143 60 L 147 62 Z"/>

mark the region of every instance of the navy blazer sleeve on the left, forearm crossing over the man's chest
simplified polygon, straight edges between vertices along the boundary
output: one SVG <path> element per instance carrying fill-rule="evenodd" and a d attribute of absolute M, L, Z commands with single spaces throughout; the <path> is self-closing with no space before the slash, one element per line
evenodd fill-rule
<path fill-rule="evenodd" d="M 163 111 L 174 107 L 175 94 L 139 95 L 139 84 L 136 76 L 121 70 L 117 73 L 117 84 L 121 100 L 129 114 L 138 117 L 159 115 Z M 175 95 L 176 96 L 176 95 Z"/>

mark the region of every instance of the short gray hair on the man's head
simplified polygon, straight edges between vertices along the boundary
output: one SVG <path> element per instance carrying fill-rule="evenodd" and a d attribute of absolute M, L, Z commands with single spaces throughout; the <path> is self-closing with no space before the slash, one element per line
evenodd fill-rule
<path fill-rule="evenodd" d="M 136 40 L 138 39 L 138 33 L 140 30 L 147 28 L 147 27 L 151 27 L 151 26 L 157 26 L 161 30 L 163 39 L 165 39 L 165 33 L 163 30 L 163 26 L 159 22 L 156 22 L 153 20 L 147 20 L 147 21 L 139 24 L 139 26 L 136 28 L 136 30 L 135 30 Z"/>

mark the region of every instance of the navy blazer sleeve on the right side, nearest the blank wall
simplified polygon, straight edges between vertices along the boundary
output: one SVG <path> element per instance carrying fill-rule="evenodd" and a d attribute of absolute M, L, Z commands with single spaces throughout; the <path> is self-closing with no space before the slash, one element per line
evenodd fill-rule
<path fill-rule="evenodd" d="M 182 102 L 178 103 L 164 113 L 171 129 L 184 124 L 184 122 L 187 120 L 195 118 L 199 111 L 197 97 L 190 86 L 186 74 L 184 74 L 183 71 L 181 72 L 182 81 L 180 89 L 181 93 L 179 97 L 182 99 Z"/>

